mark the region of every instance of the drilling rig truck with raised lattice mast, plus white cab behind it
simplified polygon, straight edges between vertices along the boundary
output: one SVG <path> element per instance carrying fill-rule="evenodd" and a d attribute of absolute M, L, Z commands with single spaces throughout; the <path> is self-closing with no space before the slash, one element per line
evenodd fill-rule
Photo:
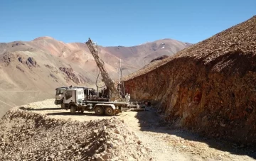
<path fill-rule="evenodd" d="M 55 96 L 55 104 L 61 104 L 63 109 L 70 109 L 70 113 L 75 114 L 77 111 L 83 113 L 84 111 L 94 111 L 97 115 L 113 116 L 117 113 L 121 113 L 124 109 L 130 109 L 136 107 L 136 109 L 144 108 L 139 104 L 130 104 L 124 101 L 120 91 L 115 87 L 113 80 L 105 69 L 105 63 L 100 59 L 97 51 L 97 44 L 93 43 L 92 40 L 85 42 L 89 48 L 92 56 L 95 59 L 97 67 L 100 70 L 102 81 L 105 83 L 107 89 L 110 91 L 110 99 L 90 99 L 85 98 L 85 89 L 82 87 L 71 87 L 71 88 L 58 88 L 56 89 L 56 95 L 58 91 L 60 94 Z M 63 96 L 63 91 L 65 96 Z M 57 98 L 58 97 L 58 98 Z"/>

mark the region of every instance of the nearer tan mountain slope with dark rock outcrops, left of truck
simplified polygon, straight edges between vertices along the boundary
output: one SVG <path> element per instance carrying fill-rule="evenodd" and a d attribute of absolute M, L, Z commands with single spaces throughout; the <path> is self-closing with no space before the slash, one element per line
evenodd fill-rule
<path fill-rule="evenodd" d="M 53 55 L 22 51 L 1 56 L 0 116 L 12 106 L 53 98 L 56 87 L 92 83 L 82 75 L 85 71 L 75 65 L 71 68 Z"/>

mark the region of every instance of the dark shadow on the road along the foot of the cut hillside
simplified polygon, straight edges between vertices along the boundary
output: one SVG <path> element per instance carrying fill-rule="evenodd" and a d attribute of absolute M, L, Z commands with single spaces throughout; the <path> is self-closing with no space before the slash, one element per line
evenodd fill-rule
<path fill-rule="evenodd" d="M 255 145 L 250 147 L 238 145 L 225 140 L 207 138 L 206 136 L 198 133 L 188 131 L 185 128 L 169 126 L 168 123 L 165 123 L 160 119 L 159 115 L 156 113 L 156 109 L 152 109 L 151 111 L 138 111 L 136 118 L 139 120 L 141 131 L 169 134 L 170 136 L 176 135 L 176 137 L 183 138 L 184 140 L 206 143 L 209 148 L 214 148 L 223 152 L 230 152 L 234 155 L 247 155 L 256 159 Z"/>

